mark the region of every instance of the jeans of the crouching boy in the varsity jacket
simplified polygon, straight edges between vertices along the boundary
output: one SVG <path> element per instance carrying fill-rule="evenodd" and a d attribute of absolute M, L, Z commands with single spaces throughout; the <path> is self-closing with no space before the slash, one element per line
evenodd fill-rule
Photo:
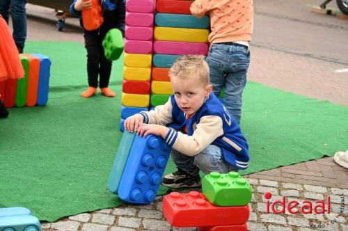
<path fill-rule="evenodd" d="M 235 166 L 230 166 L 223 161 L 221 148 L 216 145 L 208 145 L 205 150 L 194 157 L 189 157 L 181 152 L 177 152 L 177 150 L 172 150 L 171 158 L 177 168 L 190 175 L 198 174 L 199 170 L 202 170 L 205 174 L 211 172 L 228 173 L 230 171 L 238 171 Z"/>

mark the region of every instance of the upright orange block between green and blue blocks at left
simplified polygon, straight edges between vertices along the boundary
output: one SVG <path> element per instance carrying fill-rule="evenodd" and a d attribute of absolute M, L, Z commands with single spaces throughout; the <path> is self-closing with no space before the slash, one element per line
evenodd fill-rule
<path fill-rule="evenodd" d="M 29 61 L 28 90 L 26 91 L 26 106 L 35 106 L 38 100 L 40 59 L 31 54 L 23 54 Z"/>

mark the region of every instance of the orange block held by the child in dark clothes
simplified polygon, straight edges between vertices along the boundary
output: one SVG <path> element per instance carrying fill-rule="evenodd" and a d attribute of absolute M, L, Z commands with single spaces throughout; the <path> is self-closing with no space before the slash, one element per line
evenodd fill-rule
<path fill-rule="evenodd" d="M 92 0 L 92 6 L 82 10 L 82 22 L 87 31 L 98 29 L 104 22 L 99 0 Z"/>

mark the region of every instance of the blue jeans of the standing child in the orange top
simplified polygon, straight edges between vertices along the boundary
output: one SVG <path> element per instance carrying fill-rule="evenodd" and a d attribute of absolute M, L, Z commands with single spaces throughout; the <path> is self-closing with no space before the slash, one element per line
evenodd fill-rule
<path fill-rule="evenodd" d="M 242 93 L 246 85 L 246 72 L 250 63 L 250 51 L 240 45 L 212 44 L 207 56 L 213 93 L 223 97 L 226 109 L 239 123 L 242 112 Z"/>

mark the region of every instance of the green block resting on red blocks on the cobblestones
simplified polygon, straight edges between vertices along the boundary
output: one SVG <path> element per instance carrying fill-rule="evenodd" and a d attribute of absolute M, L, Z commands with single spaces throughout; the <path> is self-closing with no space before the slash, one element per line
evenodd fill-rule
<path fill-rule="evenodd" d="M 244 206 L 251 201 L 251 186 L 238 173 L 212 172 L 203 178 L 202 191 L 213 205 Z"/>

